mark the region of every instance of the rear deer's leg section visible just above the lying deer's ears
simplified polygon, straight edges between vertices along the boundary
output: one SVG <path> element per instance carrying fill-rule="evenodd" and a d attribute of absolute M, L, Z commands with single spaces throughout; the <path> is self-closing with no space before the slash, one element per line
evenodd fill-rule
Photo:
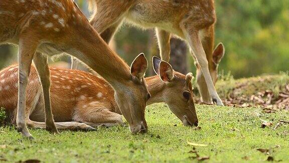
<path fill-rule="evenodd" d="M 170 45 L 171 33 L 156 28 L 156 34 L 159 43 L 160 56 L 162 60 L 169 62 L 171 53 L 171 45 Z"/>

